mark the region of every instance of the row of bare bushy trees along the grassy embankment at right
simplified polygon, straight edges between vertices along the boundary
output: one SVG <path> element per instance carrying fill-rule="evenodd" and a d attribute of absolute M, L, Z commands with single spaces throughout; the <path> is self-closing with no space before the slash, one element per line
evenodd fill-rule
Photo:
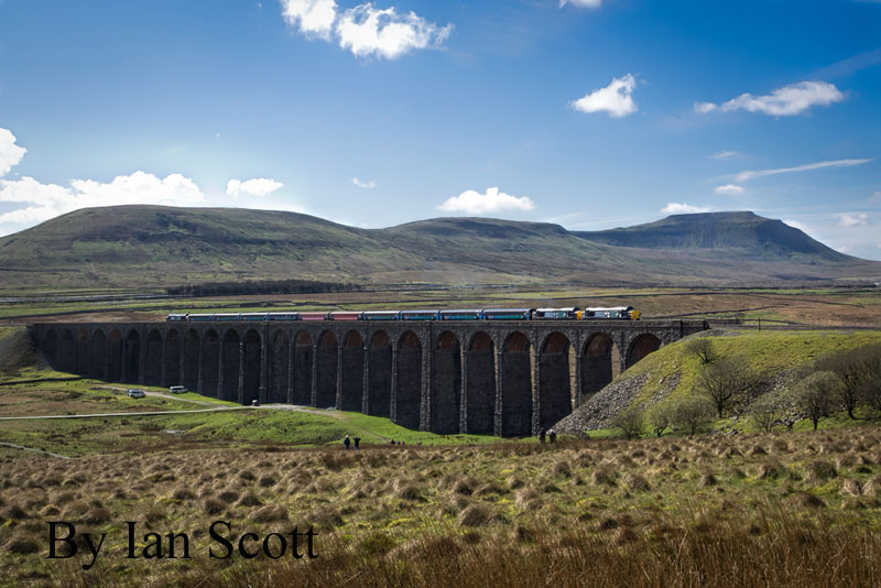
<path fill-rule="evenodd" d="M 785 399 L 759 395 L 764 382 L 743 358 L 720 355 L 711 338 L 698 337 L 686 345 L 686 352 L 699 363 L 694 393 L 648 409 L 631 405 L 613 422 L 624 437 L 642 436 L 646 429 L 659 437 L 667 431 L 694 435 L 732 414 L 748 417 L 762 431 L 775 425 L 792 429 L 803 418 L 816 431 L 822 418 L 836 412 L 853 421 L 881 417 L 879 344 L 826 353 L 796 370 Z"/>

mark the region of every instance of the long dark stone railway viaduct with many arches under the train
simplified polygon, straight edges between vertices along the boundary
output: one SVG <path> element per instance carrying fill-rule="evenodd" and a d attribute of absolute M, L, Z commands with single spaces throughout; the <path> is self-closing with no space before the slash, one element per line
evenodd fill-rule
<path fill-rule="evenodd" d="M 535 434 L 703 320 L 35 324 L 50 363 L 251 404 L 389 416 L 440 434 Z"/>

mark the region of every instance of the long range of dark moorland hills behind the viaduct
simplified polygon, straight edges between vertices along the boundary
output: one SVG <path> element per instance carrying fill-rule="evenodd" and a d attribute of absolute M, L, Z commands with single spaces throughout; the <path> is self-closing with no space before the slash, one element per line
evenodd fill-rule
<path fill-rule="evenodd" d="M 357 229 L 295 213 L 88 208 L 0 238 L 3 291 L 313 279 L 363 284 L 732 285 L 881 279 L 752 213 L 676 215 L 596 232 L 437 218 Z"/>

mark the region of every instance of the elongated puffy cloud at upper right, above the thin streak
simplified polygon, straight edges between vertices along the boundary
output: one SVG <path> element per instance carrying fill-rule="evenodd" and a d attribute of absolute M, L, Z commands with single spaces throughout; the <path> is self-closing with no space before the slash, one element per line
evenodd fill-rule
<path fill-rule="evenodd" d="M 695 102 L 695 112 L 707 115 L 714 110 L 730 112 L 732 110 L 747 110 L 748 112 L 762 112 L 772 117 L 792 117 L 801 115 L 813 106 L 829 106 L 840 102 L 845 95 L 833 84 L 827 81 L 800 81 L 777 88 L 765 96 L 741 94 L 721 106 L 713 102 Z"/>

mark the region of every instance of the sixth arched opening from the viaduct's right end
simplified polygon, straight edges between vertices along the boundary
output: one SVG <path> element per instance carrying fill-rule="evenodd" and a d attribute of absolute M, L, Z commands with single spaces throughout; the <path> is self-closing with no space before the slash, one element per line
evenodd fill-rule
<path fill-rule="evenodd" d="M 432 362 L 432 433 L 459 432 L 461 352 L 459 339 L 446 330 L 437 338 Z"/>

